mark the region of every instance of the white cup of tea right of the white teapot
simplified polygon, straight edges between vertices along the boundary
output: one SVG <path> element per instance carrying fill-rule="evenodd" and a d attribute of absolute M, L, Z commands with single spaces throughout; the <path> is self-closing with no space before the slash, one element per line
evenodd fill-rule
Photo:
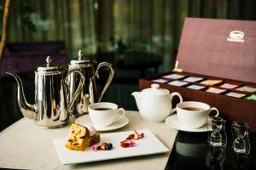
<path fill-rule="evenodd" d="M 197 101 L 185 101 L 177 104 L 177 118 L 185 128 L 199 128 L 207 122 L 207 118 L 211 111 L 218 109 Z"/>

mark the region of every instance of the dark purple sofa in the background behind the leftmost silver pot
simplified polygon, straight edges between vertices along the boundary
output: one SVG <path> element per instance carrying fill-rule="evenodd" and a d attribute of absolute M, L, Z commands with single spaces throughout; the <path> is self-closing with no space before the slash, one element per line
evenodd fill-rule
<path fill-rule="evenodd" d="M 8 42 L 3 55 L 0 76 L 6 71 L 17 74 L 32 73 L 38 66 L 46 65 L 46 57 L 50 55 L 55 65 L 66 65 L 67 54 L 65 42 Z M 7 53 L 9 51 L 9 53 Z"/>

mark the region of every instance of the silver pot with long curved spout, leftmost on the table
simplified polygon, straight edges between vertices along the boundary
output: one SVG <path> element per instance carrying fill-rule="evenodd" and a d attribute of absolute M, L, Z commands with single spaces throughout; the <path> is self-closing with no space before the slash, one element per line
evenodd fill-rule
<path fill-rule="evenodd" d="M 35 71 L 35 104 L 26 102 L 23 85 L 15 73 L 6 72 L 18 85 L 18 105 L 23 116 L 33 119 L 40 127 L 63 127 L 69 120 L 72 106 L 84 85 L 84 76 L 78 70 L 64 71 L 60 66 L 51 65 L 52 59 L 48 56 L 46 67 L 38 67 Z M 73 98 L 67 101 L 67 77 L 70 74 L 79 76 L 79 86 L 75 90 Z"/>

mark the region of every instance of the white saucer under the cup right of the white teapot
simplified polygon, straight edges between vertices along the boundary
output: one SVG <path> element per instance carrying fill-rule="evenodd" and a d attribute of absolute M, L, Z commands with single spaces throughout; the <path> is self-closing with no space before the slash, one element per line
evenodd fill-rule
<path fill-rule="evenodd" d="M 185 132 L 199 133 L 199 132 L 212 131 L 212 123 L 210 120 L 208 120 L 206 124 L 204 124 L 202 127 L 199 127 L 199 128 L 185 128 L 178 121 L 177 114 L 168 116 L 166 118 L 166 125 L 168 125 L 169 127 L 175 128 L 177 130 L 185 131 Z M 207 128 L 207 125 L 208 125 L 208 128 Z"/>

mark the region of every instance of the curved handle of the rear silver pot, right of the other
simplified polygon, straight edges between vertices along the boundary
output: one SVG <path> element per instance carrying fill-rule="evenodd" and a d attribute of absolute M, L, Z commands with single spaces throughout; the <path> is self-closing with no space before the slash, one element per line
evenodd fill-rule
<path fill-rule="evenodd" d="M 108 89 L 109 84 L 110 84 L 110 83 L 112 82 L 112 80 L 113 80 L 113 74 L 114 74 L 113 66 L 112 66 L 110 63 L 108 63 L 108 62 L 102 62 L 102 63 L 100 63 L 100 64 L 97 66 L 97 68 L 96 68 L 95 74 L 96 74 L 96 77 L 97 77 L 97 78 L 99 78 L 99 73 L 98 73 L 98 71 L 100 70 L 100 68 L 102 68 L 102 66 L 107 66 L 107 67 L 109 68 L 110 72 L 109 72 L 109 76 L 108 76 L 108 81 L 107 81 L 106 84 L 104 85 L 104 88 L 102 88 L 102 94 L 101 94 L 100 98 L 98 99 L 98 101 L 101 101 L 101 100 L 102 100 L 102 97 L 103 97 L 103 95 L 105 94 L 106 90 Z"/>

